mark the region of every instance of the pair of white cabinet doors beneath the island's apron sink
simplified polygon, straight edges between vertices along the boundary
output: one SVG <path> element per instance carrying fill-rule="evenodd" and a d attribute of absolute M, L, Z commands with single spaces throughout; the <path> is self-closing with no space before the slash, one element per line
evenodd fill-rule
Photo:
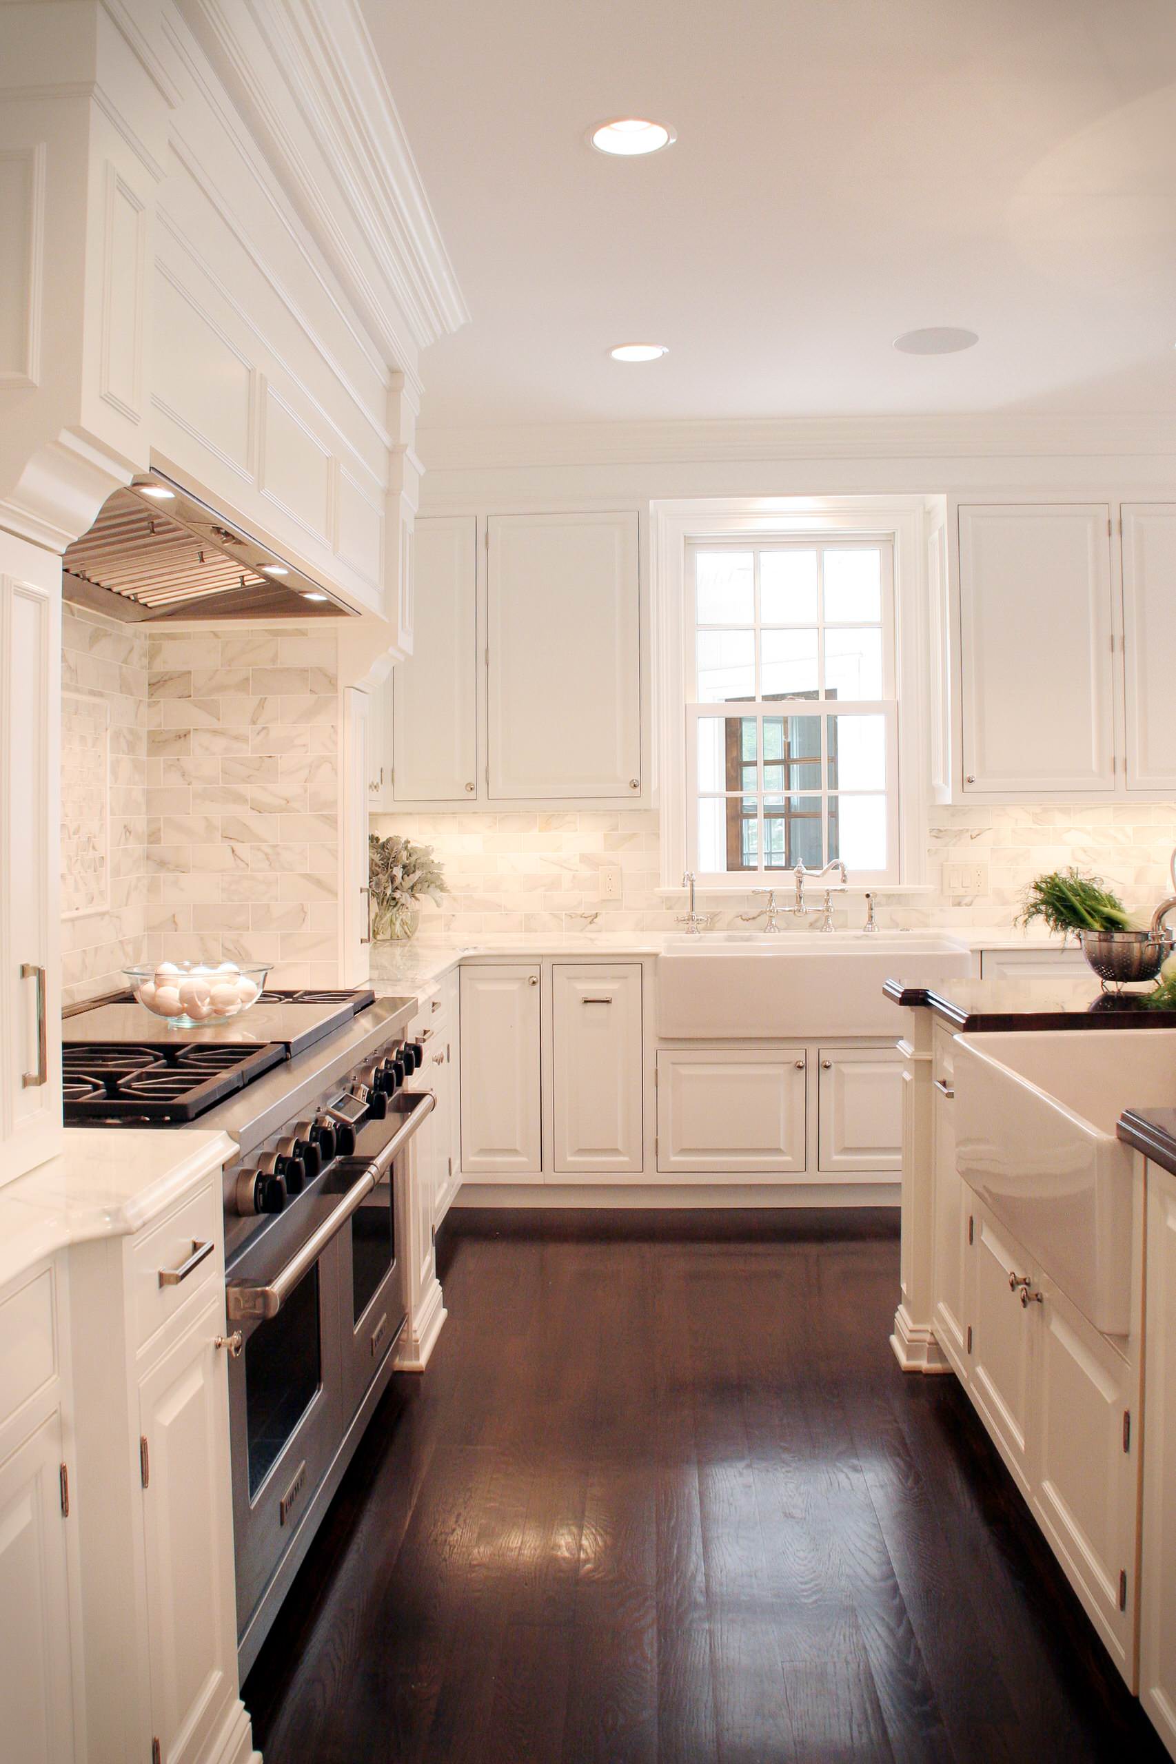
<path fill-rule="evenodd" d="M 964 1192 L 971 1401 L 1134 1686 L 1142 1432 L 1137 1334 L 1102 1335 L 987 1207 Z"/>

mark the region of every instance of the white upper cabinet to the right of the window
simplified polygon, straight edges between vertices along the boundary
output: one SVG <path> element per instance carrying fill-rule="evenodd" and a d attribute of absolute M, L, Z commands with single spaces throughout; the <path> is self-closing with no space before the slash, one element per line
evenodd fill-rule
<path fill-rule="evenodd" d="M 1176 503 L 961 505 L 941 563 L 932 545 L 938 801 L 1176 794 Z"/>

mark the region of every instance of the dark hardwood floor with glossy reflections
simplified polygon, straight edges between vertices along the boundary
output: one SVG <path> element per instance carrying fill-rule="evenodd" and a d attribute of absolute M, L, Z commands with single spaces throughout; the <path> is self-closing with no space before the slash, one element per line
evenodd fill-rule
<path fill-rule="evenodd" d="M 954 1378 L 890 1212 L 450 1214 L 247 1685 L 267 1764 L 1165 1753 Z"/>

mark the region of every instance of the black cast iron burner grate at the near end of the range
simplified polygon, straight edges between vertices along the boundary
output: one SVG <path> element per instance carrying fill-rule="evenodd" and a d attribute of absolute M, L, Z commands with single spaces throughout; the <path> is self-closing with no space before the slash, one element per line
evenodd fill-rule
<path fill-rule="evenodd" d="M 265 1048 L 189 1046 L 145 1041 L 74 1043 L 62 1048 L 65 1120 L 187 1122 L 286 1058 Z"/>

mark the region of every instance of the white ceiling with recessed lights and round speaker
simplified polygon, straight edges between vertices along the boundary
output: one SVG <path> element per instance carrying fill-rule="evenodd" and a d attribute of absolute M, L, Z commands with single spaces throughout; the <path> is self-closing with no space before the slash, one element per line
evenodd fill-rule
<path fill-rule="evenodd" d="M 471 312 L 426 425 L 1176 404 L 1171 0 L 362 5 Z"/>

